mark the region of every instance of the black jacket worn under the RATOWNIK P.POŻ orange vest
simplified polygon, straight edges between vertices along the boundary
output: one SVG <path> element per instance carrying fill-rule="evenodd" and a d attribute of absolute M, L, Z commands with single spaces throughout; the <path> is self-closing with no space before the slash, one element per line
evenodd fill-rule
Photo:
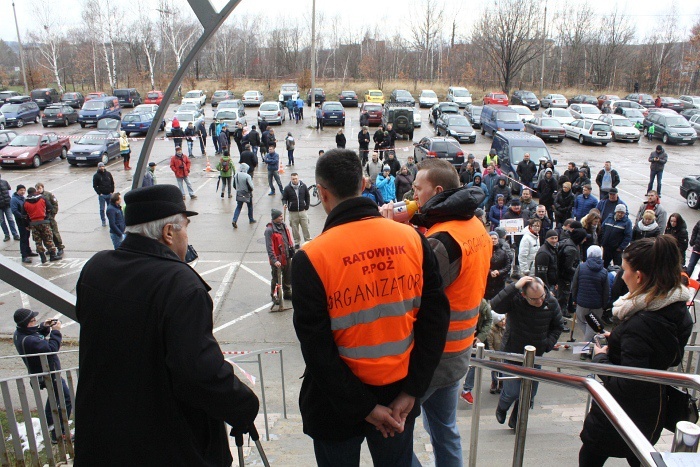
<path fill-rule="evenodd" d="M 331 211 L 323 230 L 379 215 L 377 205 L 372 201 L 363 197 L 352 198 Z M 415 346 L 408 375 L 385 386 L 363 383 L 340 359 L 333 340 L 323 283 L 303 248 L 294 256 L 294 328 L 306 362 L 299 407 L 304 433 L 312 438 L 346 440 L 360 436 L 366 430 L 374 429 L 365 417 L 377 404 L 388 405 L 401 391 L 420 398 L 427 390 L 442 356 L 450 318 L 437 260 L 424 237 L 421 237 L 421 243 L 423 293 L 414 323 Z M 427 342 L 442 344 L 426 345 Z M 419 412 L 419 404 L 415 404 L 409 417 L 414 418 Z"/>

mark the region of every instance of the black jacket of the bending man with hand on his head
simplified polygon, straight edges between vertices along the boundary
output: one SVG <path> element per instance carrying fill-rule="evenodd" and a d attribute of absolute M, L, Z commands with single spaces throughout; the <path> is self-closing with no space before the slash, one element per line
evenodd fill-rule
<path fill-rule="evenodd" d="M 562 316 L 557 300 L 548 289 L 545 293 L 547 298 L 539 308 L 530 305 L 514 284 L 491 300 L 493 311 L 508 315 L 501 351 L 521 354 L 526 345 L 534 345 L 539 357 L 554 348 L 562 333 Z"/>

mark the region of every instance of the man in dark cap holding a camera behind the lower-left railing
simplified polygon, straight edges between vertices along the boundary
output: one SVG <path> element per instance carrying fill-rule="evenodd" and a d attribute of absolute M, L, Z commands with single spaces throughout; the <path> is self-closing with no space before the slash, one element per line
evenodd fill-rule
<path fill-rule="evenodd" d="M 58 320 L 49 319 L 43 323 L 39 323 L 36 317 L 39 315 L 38 312 L 29 310 L 27 308 L 20 308 L 15 311 L 14 319 L 17 328 L 15 329 L 12 341 L 15 344 L 17 353 L 20 355 L 33 355 L 42 353 L 51 353 L 53 355 L 47 355 L 46 359 L 49 363 L 49 369 L 51 371 L 59 371 L 61 369 L 61 361 L 58 359 L 58 355 L 55 352 L 61 350 L 61 340 L 63 336 L 61 335 L 61 322 Z M 27 357 L 22 359 L 24 364 L 27 366 L 27 370 L 30 374 L 43 373 L 44 370 L 41 366 L 41 360 L 39 357 Z M 56 396 L 56 401 L 61 405 L 60 393 L 58 392 L 58 384 L 56 375 L 51 376 L 54 395 Z M 41 389 L 46 389 L 48 380 L 44 376 L 39 377 L 39 387 Z M 63 386 L 63 401 L 64 407 L 66 409 L 66 414 L 70 418 L 71 410 L 73 404 L 70 400 L 70 391 L 68 390 L 68 385 L 66 380 L 61 378 L 61 385 Z M 49 430 L 51 430 L 51 441 L 56 444 L 57 437 L 55 426 L 53 423 L 53 413 L 51 412 L 51 405 L 49 400 L 46 400 L 46 406 L 44 407 L 44 413 L 46 414 L 46 423 L 49 425 Z M 59 414 L 61 412 L 59 411 Z M 66 434 L 66 427 L 61 419 L 61 433 Z"/>

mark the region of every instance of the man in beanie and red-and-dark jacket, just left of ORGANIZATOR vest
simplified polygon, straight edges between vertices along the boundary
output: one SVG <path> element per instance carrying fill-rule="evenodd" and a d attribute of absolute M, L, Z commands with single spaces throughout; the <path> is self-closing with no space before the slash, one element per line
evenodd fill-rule
<path fill-rule="evenodd" d="M 272 222 L 265 228 L 265 248 L 267 258 L 270 261 L 271 276 L 270 296 L 275 305 L 279 304 L 279 297 L 275 294 L 277 287 L 282 287 L 285 300 L 292 299 L 292 257 L 294 256 L 294 241 L 289 228 L 284 223 L 282 211 L 272 209 L 270 213 Z M 282 283 L 279 284 L 279 273 L 282 272 Z M 277 291 L 279 293 L 279 291 Z"/>

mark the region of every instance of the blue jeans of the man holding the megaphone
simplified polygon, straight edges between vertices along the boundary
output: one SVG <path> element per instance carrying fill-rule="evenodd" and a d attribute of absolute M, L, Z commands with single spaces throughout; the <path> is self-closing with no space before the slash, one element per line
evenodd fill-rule
<path fill-rule="evenodd" d="M 436 466 L 461 467 L 462 442 L 457 428 L 457 399 L 460 381 L 444 388 L 429 388 L 421 399 L 423 426 L 430 434 Z M 420 466 L 415 454 L 412 466 Z"/>

